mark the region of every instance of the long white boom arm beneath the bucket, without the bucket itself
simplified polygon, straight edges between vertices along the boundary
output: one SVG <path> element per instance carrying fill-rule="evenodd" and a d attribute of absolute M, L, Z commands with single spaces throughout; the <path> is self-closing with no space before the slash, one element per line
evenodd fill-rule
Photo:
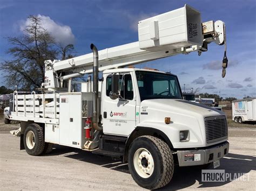
<path fill-rule="evenodd" d="M 112 68 L 120 68 L 137 63 L 156 60 L 167 56 L 172 56 L 180 53 L 190 53 L 193 51 L 201 51 L 202 46 L 194 45 L 187 48 L 169 49 L 166 51 L 150 52 L 139 48 L 139 42 L 126 45 L 106 48 L 99 51 L 99 71 Z M 57 71 L 78 72 L 81 74 L 92 73 L 93 55 L 85 54 L 77 56 L 69 60 L 63 60 L 52 64 L 47 60 L 46 67 Z"/>

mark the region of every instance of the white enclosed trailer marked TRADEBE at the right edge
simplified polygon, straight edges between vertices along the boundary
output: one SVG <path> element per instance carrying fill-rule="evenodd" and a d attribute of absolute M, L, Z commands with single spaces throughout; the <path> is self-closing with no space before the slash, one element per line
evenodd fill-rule
<path fill-rule="evenodd" d="M 235 123 L 256 122 L 256 97 L 232 101 L 232 119 Z"/>

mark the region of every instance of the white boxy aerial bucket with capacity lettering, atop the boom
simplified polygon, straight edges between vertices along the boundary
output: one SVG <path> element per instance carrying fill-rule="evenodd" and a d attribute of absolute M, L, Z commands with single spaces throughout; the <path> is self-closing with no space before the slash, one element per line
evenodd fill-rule
<path fill-rule="evenodd" d="M 139 48 L 161 51 L 202 45 L 200 12 L 185 5 L 138 23 Z"/>

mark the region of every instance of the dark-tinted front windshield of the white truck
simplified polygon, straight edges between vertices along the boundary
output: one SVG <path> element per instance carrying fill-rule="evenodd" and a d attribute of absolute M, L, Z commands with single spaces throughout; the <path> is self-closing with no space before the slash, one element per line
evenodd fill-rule
<path fill-rule="evenodd" d="M 176 76 L 147 71 L 136 71 L 140 100 L 182 99 Z"/>

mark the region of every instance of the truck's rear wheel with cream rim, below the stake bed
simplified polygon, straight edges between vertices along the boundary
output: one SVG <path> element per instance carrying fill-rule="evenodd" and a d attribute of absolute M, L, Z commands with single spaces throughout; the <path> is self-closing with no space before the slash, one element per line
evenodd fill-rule
<path fill-rule="evenodd" d="M 24 132 L 24 146 L 28 154 L 37 156 L 44 151 L 44 130 L 42 126 L 32 123 Z"/>

